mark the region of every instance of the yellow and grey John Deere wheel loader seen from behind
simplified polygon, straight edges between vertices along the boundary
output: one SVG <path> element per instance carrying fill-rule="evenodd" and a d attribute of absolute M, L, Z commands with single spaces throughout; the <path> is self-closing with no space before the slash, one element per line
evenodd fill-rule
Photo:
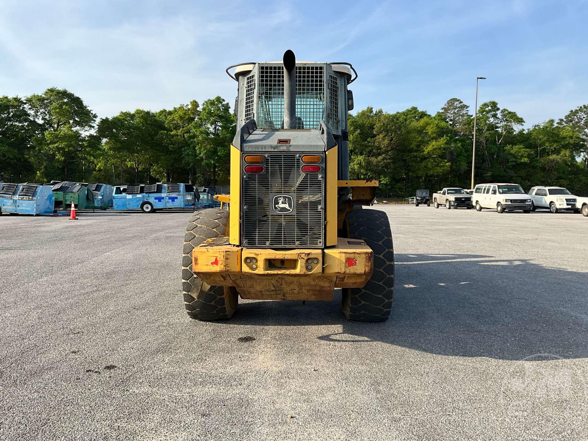
<path fill-rule="evenodd" d="M 283 63 L 238 64 L 227 73 L 238 82 L 229 210 L 206 209 L 189 220 L 182 260 L 188 315 L 228 319 L 239 297 L 332 300 L 342 288 L 348 319 L 386 320 L 394 286 L 390 223 L 382 211 L 360 209 L 372 205 L 377 181 L 349 180 L 355 69 L 297 63 L 286 51 Z"/>

